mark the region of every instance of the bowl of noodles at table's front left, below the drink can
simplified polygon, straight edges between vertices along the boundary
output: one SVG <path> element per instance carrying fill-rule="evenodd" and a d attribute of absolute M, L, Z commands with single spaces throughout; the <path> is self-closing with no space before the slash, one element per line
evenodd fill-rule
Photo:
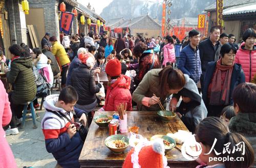
<path fill-rule="evenodd" d="M 111 135 L 105 139 L 105 146 L 114 154 L 120 154 L 129 146 L 129 138 L 119 134 Z"/>

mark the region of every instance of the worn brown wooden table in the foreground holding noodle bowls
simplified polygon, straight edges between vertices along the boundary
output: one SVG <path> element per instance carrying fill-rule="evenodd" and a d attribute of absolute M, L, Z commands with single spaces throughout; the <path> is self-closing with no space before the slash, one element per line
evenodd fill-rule
<path fill-rule="evenodd" d="M 96 112 L 95 116 L 100 114 L 114 114 L 114 111 Z M 176 118 L 169 123 L 162 122 L 156 111 L 128 111 L 127 125 L 139 126 L 139 134 L 148 140 L 156 134 L 175 133 L 179 129 L 187 130 L 180 118 Z M 127 133 L 124 133 L 127 136 Z M 131 149 L 127 148 L 122 154 L 113 154 L 105 145 L 104 140 L 109 136 L 108 128 L 99 128 L 92 122 L 89 132 L 81 151 L 79 162 L 81 167 L 122 167 L 127 152 Z M 186 160 L 181 152 L 181 145 L 177 145 L 166 153 L 168 165 L 171 167 L 196 167 L 199 165 L 196 161 Z"/>

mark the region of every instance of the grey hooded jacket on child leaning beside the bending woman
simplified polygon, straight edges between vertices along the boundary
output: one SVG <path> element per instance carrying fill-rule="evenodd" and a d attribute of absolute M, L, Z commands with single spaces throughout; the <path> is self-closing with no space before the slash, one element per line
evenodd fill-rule
<path fill-rule="evenodd" d="M 185 79 L 186 84 L 177 96 L 189 97 L 191 101 L 188 103 L 181 101 L 177 112 L 183 114 L 181 120 L 189 131 L 194 132 L 196 126 L 207 117 L 207 109 L 194 80 L 189 78 L 186 74 Z"/>

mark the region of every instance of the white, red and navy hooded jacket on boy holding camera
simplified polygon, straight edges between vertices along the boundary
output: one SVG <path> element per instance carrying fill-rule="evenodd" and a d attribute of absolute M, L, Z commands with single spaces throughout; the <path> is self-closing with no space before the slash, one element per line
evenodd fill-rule
<path fill-rule="evenodd" d="M 56 107 L 55 103 L 57 101 L 58 95 L 47 96 L 44 107 L 52 111 L 60 111 L 73 122 L 73 114 Z M 80 117 L 81 114 L 77 114 L 77 116 Z M 62 167 L 80 167 L 78 158 L 83 143 L 78 132 L 72 138 L 69 137 L 67 129 L 70 124 L 67 119 L 60 118 L 46 110 L 46 114 L 41 121 L 41 128 L 45 136 L 46 150 L 53 154 L 58 164 Z"/>

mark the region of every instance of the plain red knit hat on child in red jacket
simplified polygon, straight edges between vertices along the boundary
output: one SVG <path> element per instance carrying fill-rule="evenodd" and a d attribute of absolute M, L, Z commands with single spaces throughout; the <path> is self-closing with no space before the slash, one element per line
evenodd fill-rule
<path fill-rule="evenodd" d="M 105 71 L 106 71 L 106 74 L 108 74 L 110 76 L 119 76 L 119 75 L 121 75 L 121 63 L 120 63 L 120 61 L 117 60 L 117 59 L 110 60 L 106 64 Z"/>

